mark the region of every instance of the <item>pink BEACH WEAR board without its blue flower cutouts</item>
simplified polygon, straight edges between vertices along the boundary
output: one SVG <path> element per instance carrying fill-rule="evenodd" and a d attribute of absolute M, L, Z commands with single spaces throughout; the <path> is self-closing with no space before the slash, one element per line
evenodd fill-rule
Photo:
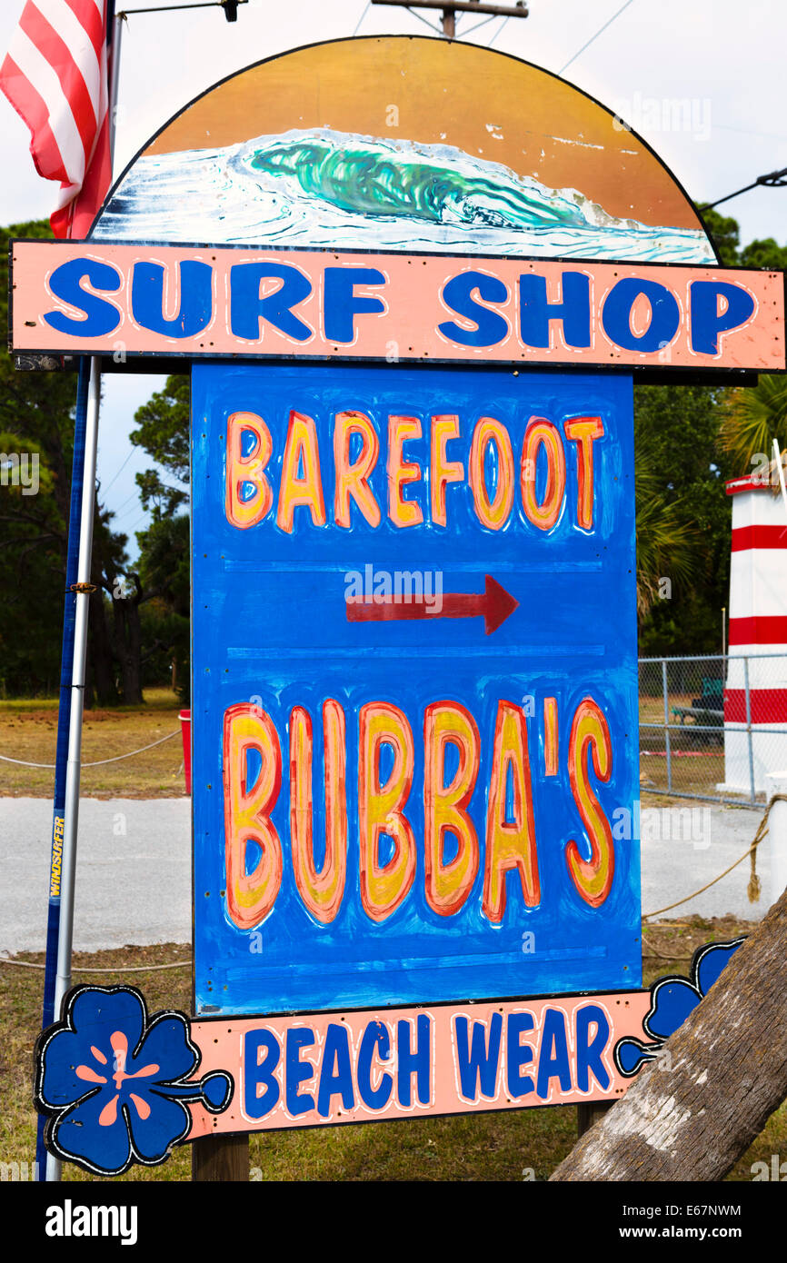
<path fill-rule="evenodd" d="M 201 1074 L 229 1108 L 191 1105 L 191 1138 L 616 1100 L 623 1038 L 648 1039 L 649 991 L 193 1021 Z"/>

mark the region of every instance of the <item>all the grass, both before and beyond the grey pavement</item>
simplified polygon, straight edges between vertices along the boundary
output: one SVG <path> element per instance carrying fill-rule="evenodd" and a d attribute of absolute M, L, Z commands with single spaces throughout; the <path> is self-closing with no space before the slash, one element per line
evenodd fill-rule
<path fill-rule="evenodd" d="M 179 733 L 179 703 L 171 690 L 148 690 L 145 702 L 144 707 L 87 711 L 85 762 L 124 754 L 168 733 Z M 0 754 L 52 763 L 56 730 L 57 700 L 0 701 Z M 654 758 L 652 762 L 656 773 L 658 760 Z M 678 762 L 688 765 L 705 760 Z M 687 767 L 685 774 L 697 773 L 694 767 L 690 773 Z M 47 798 L 52 796 L 52 787 L 51 769 L 0 760 L 0 794 Z M 179 735 L 135 758 L 96 768 L 85 767 L 82 793 L 105 798 L 154 798 L 184 793 Z M 649 805 L 661 802 L 661 798 L 654 798 Z M 685 974 L 695 947 L 712 940 L 731 938 L 736 932 L 739 926 L 730 918 L 706 922 L 692 917 L 648 925 L 644 932 L 646 980 L 651 983 L 666 973 Z M 145 994 L 150 1012 L 177 1008 L 187 1013 L 189 966 L 138 974 L 129 974 L 128 970 L 188 961 L 189 956 L 191 949 L 177 943 L 77 954 L 75 981 L 133 981 Z M 43 956 L 28 952 L 16 960 L 40 965 Z M 96 969 L 111 973 L 91 973 Z M 35 1152 L 35 1113 L 30 1100 L 32 1051 L 40 1022 L 43 973 L 40 969 L 0 964 L 0 1158 L 3 1162 L 32 1164 Z M 546 1180 L 568 1153 L 575 1138 L 574 1108 L 531 1109 L 253 1135 L 250 1166 L 254 1178 L 272 1181 L 520 1181 L 527 1168 L 532 1168 L 536 1180 Z M 769 1164 L 774 1153 L 787 1157 L 787 1105 L 769 1119 L 762 1135 L 728 1178 L 750 1180 L 752 1163 L 764 1161 Z M 133 1167 L 124 1180 L 189 1177 L 191 1153 L 186 1146 L 176 1149 L 164 1166 L 153 1171 Z M 67 1181 L 91 1178 L 77 1167 L 64 1167 Z"/>

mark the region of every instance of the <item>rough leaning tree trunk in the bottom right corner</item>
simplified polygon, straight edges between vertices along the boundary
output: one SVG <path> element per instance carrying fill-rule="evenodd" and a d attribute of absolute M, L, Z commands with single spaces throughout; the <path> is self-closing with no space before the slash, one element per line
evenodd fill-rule
<path fill-rule="evenodd" d="M 787 892 L 551 1178 L 721 1180 L 787 1096 L 786 957 Z"/>

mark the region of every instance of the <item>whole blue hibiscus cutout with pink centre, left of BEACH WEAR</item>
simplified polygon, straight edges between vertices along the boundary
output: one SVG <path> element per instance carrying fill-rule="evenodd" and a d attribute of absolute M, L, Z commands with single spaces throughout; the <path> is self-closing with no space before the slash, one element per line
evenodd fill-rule
<path fill-rule="evenodd" d="M 49 1116 L 47 1147 L 95 1175 L 158 1166 L 191 1132 L 189 1103 L 220 1114 L 234 1084 L 225 1071 L 192 1076 L 200 1050 L 182 1013 L 150 1021 L 131 986 L 80 986 L 35 1048 L 35 1104 Z"/>

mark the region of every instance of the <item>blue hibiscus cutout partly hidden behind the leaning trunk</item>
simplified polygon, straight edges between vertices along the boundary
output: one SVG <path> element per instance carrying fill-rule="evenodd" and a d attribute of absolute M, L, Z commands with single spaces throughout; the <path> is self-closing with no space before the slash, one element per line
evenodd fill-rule
<path fill-rule="evenodd" d="M 615 1045 L 615 1065 L 622 1075 L 637 1075 L 648 1061 L 656 1061 L 666 1041 L 682 1027 L 697 1004 L 726 966 L 730 956 L 738 951 L 743 938 L 729 943 L 709 943 L 700 947 L 692 957 L 688 978 L 659 978 L 651 988 L 651 1010 L 643 1028 L 653 1041 L 627 1037 Z"/>

